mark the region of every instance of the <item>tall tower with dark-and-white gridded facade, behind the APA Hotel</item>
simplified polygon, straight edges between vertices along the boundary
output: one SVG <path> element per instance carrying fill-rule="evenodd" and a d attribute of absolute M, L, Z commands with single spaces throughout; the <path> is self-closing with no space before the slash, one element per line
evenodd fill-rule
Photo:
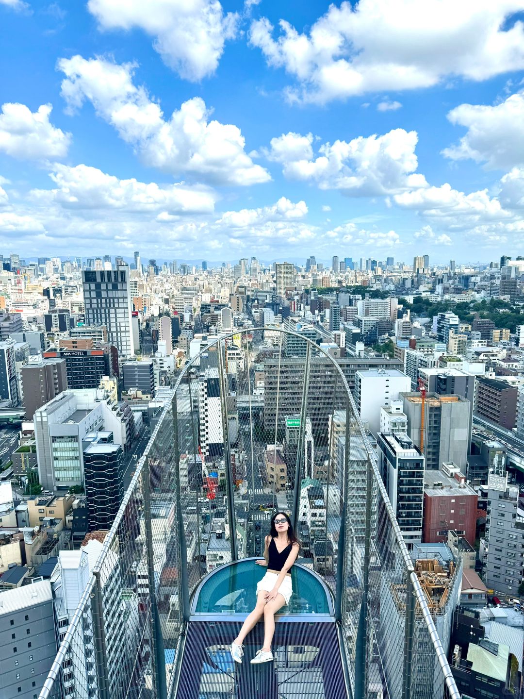
<path fill-rule="evenodd" d="M 131 293 L 129 268 L 112 271 L 83 271 L 84 308 L 87 325 L 104 325 L 108 342 L 120 356 L 135 353 L 131 332 Z"/>

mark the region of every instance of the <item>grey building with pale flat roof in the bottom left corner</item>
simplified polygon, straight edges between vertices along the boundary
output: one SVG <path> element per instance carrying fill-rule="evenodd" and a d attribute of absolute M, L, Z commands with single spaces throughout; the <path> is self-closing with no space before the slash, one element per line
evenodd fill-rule
<path fill-rule="evenodd" d="M 0 592 L 2 699 L 38 697 L 57 654 L 49 580 Z"/>

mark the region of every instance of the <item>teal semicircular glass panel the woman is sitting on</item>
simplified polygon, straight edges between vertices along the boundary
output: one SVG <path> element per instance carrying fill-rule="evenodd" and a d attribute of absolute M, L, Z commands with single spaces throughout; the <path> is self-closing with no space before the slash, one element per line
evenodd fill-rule
<path fill-rule="evenodd" d="M 217 568 L 205 580 L 198 593 L 195 614 L 249 614 L 256 605 L 256 584 L 265 568 L 253 559 Z M 291 568 L 293 595 L 280 614 L 331 614 L 326 589 L 320 580 L 304 568 Z"/>

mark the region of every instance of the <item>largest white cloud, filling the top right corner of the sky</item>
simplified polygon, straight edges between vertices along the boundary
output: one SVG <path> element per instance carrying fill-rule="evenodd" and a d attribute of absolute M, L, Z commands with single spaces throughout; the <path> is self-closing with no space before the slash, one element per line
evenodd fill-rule
<path fill-rule="evenodd" d="M 249 41 L 298 82 L 290 99 L 324 103 L 365 92 L 416 89 L 446 77 L 486 80 L 524 68 L 524 26 L 504 21 L 521 0 L 360 0 L 330 5 L 308 34 L 263 17 Z M 377 36 L 380 40 L 377 41 Z"/>

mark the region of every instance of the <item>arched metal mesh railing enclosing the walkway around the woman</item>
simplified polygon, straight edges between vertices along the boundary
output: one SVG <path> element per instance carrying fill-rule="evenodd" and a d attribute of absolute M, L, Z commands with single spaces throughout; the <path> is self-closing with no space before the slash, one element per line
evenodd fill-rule
<path fill-rule="evenodd" d="M 460 565 L 435 605 L 335 359 L 282 329 L 232 333 L 163 398 L 72 608 L 70 563 L 54 571 L 68 628 L 40 699 L 171 699 L 189 596 L 217 565 L 261 555 L 276 510 L 335 593 L 351 696 L 459 699 L 439 631 L 449 638 Z"/>

